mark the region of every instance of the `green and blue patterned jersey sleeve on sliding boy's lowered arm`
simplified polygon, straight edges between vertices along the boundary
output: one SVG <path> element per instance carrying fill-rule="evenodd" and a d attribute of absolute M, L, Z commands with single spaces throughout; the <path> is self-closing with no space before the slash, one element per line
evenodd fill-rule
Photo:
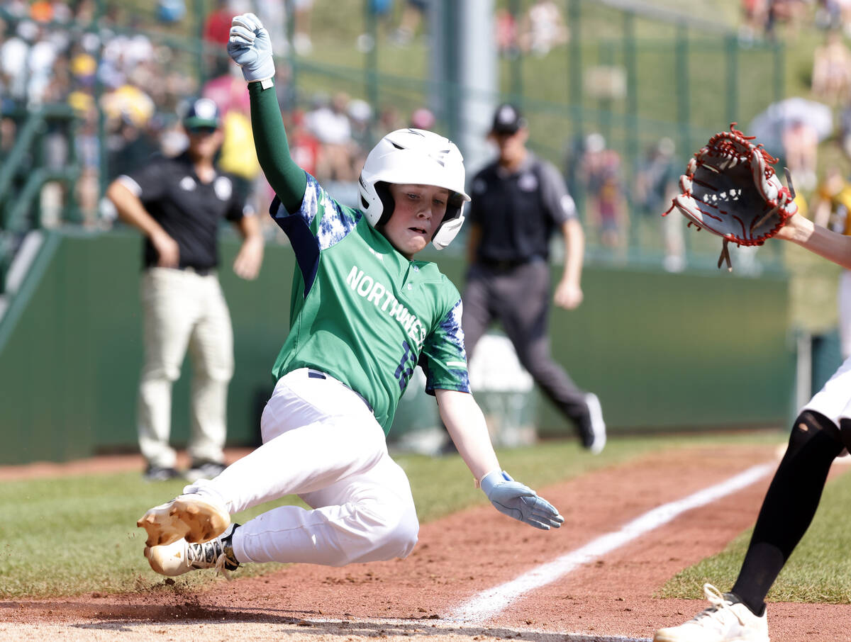
<path fill-rule="evenodd" d="M 426 373 L 426 392 L 429 395 L 434 395 L 435 389 L 470 392 L 461 311 L 459 298 L 423 344 L 419 364 Z"/>

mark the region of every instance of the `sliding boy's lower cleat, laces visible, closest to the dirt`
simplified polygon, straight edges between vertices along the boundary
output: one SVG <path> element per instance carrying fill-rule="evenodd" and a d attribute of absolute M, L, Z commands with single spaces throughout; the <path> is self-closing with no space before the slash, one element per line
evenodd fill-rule
<path fill-rule="evenodd" d="M 233 531 L 237 524 L 231 524 L 219 537 L 209 542 L 193 544 L 179 539 L 165 546 L 145 548 L 145 557 L 151 568 L 160 575 L 174 577 L 196 569 L 214 568 L 229 578 L 229 571 L 236 571 L 239 562 L 233 554 Z"/>

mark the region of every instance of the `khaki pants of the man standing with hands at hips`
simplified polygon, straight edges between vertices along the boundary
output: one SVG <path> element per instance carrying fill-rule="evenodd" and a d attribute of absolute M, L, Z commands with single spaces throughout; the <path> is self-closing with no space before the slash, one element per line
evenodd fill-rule
<path fill-rule="evenodd" d="M 139 446 L 153 466 L 174 467 L 168 445 L 172 384 L 188 347 L 192 361 L 192 460 L 223 462 L 227 385 L 233 375 L 231 315 L 215 274 L 151 268 L 142 276 L 145 366 L 139 386 Z"/>

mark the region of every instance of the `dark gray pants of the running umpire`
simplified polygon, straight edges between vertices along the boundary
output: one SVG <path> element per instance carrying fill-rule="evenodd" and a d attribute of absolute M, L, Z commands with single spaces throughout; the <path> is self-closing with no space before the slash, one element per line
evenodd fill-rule
<path fill-rule="evenodd" d="M 472 264 L 462 298 L 467 360 L 494 321 L 500 321 L 517 358 L 581 436 L 591 426 L 585 391 L 579 389 L 550 354 L 547 317 L 550 310 L 550 268 L 543 259 L 508 269 Z M 475 392 L 475 391 L 474 391 Z"/>

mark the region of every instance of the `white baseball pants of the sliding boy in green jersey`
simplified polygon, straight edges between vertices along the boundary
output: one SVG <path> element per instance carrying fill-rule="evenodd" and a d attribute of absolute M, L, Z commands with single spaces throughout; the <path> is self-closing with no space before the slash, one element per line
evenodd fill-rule
<path fill-rule="evenodd" d="M 284 375 L 260 419 L 263 446 L 184 492 L 214 494 L 231 514 L 293 493 L 312 508 L 273 508 L 237 528 L 240 562 L 342 566 L 407 557 L 420 529 L 408 477 L 363 399 L 317 374 Z"/>

